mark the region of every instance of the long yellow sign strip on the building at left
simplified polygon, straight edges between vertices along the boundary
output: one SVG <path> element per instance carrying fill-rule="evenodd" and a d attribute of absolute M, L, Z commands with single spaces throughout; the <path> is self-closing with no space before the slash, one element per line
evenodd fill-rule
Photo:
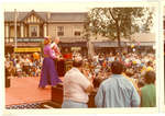
<path fill-rule="evenodd" d="M 35 53 L 41 51 L 40 47 L 33 47 L 33 48 L 14 48 L 14 53 Z"/>

